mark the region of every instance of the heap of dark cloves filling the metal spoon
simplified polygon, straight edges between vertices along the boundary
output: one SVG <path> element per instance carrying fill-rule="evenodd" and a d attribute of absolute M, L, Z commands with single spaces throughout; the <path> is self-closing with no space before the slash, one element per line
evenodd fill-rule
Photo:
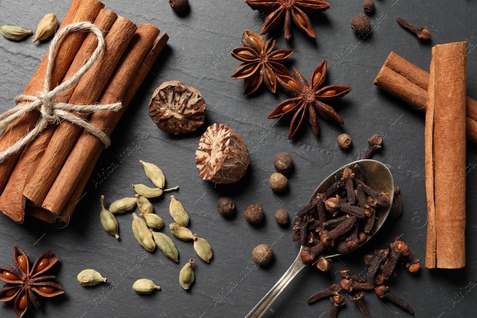
<path fill-rule="evenodd" d="M 298 211 L 292 222 L 293 241 L 300 240 L 305 246 L 301 260 L 322 271 L 330 268 L 330 260 L 320 256 L 326 248 L 342 254 L 356 249 L 373 232 L 376 208 L 390 204 L 383 191 L 373 191 L 364 183 L 358 164 L 352 168 L 355 173 L 345 168 L 341 178 L 335 176 L 325 193 Z"/>

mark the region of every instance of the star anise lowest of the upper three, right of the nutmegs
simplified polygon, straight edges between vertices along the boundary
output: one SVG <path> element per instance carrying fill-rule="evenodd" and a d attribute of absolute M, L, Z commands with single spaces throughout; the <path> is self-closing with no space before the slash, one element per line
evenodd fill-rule
<path fill-rule="evenodd" d="M 316 113 L 333 123 L 344 123 L 341 116 L 338 115 L 331 106 L 323 102 L 331 102 L 338 97 L 346 95 L 351 91 L 351 87 L 341 85 L 322 87 L 326 76 L 326 60 L 311 73 L 311 85 L 308 84 L 305 78 L 295 68 L 293 68 L 293 75 L 295 79 L 291 78 L 291 76 L 277 75 L 277 82 L 279 82 L 283 91 L 293 98 L 278 104 L 267 117 L 277 118 L 282 115 L 295 113 L 291 119 L 288 139 L 291 139 L 295 133 L 300 130 L 307 115 L 315 136 L 318 135 L 318 131 L 320 130 Z"/>

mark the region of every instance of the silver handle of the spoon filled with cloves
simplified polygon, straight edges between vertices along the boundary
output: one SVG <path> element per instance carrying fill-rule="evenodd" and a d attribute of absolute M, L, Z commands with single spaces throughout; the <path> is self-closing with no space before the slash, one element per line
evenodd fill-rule
<path fill-rule="evenodd" d="M 301 247 L 303 249 L 303 246 Z M 300 250 L 301 252 L 301 250 Z M 291 264 L 290 268 L 286 271 L 285 274 L 280 278 L 280 280 L 273 286 L 270 291 L 265 295 L 255 306 L 245 318 L 260 318 L 263 314 L 267 311 L 267 309 L 271 306 L 271 304 L 275 301 L 275 298 L 280 295 L 280 293 L 288 286 L 290 281 L 295 277 L 302 269 L 305 267 L 301 261 L 300 254 L 298 254 L 297 258 Z"/>

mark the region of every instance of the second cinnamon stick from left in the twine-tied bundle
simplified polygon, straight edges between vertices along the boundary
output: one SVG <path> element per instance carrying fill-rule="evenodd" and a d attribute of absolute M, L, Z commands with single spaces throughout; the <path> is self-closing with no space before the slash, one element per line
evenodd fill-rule
<path fill-rule="evenodd" d="M 113 11 L 102 9 L 96 17 L 94 24 L 103 30 L 104 35 L 109 31 L 116 17 L 117 14 Z M 64 80 L 78 72 L 83 66 L 84 61 L 93 53 L 96 47 L 96 36 L 90 33 L 83 41 L 80 50 L 76 54 L 68 72 L 66 72 L 66 75 L 64 76 Z M 55 102 L 69 103 L 73 92 L 74 87 L 57 95 Z M 5 186 L 3 194 L 0 196 L 0 211 L 16 223 L 23 223 L 26 201 L 25 196 L 23 195 L 23 190 L 27 182 L 35 173 L 36 168 L 50 143 L 54 131 L 55 125 L 49 125 L 37 138 L 26 146 L 10 175 L 10 179 Z"/>

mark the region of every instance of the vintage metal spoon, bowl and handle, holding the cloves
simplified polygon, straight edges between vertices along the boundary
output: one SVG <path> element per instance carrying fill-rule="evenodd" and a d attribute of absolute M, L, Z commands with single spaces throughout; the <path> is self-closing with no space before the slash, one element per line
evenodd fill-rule
<path fill-rule="evenodd" d="M 378 208 L 376 210 L 376 217 L 377 220 L 374 222 L 373 230 L 374 234 L 381 228 L 383 225 L 384 221 L 386 220 L 386 217 L 389 214 L 389 211 L 391 210 L 391 205 L 393 202 L 393 197 L 394 197 L 394 182 L 393 182 L 393 176 L 391 175 L 391 172 L 389 169 L 382 163 L 375 161 L 375 160 L 358 160 L 355 162 L 352 162 L 351 164 L 347 164 L 344 167 L 336 170 L 332 174 L 330 174 L 321 184 L 316 188 L 315 192 L 313 192 L 313 195 L 311 195 L 310 202 L 318 195 L 319 193 L 323 193 L 328 189 L 334 182 L 334 176 L 336 174 L 342 174 L 342 171 L 345 168 L 352 167 L 354 164 L 359 164 L 361 167 L 361 170 L 363 171 L 364 174 L 364 180 L 366 182 L 366 185 L 368 185 L 371 189 L 374 191 L 384 191 L 384 193 L 388 196 L 389 198 L 389 206 L 387 208 Z M 368 242 L 373 235 L 368 235 L 366 241 L 362 244 L 360 244 L 359 247 L 363 246 Z M 358 247 L 358 248 L 359 248 Z M 303 250 L 303 246 L 300 248 L 300 252 L 298 253 L 297 258 L 291 264 L 290 268 L 287 270 L 287 272 L 280 278 L 280 280 L 273 286 L 270 291 L 263 297 L 257 306 L 255 306 L 249 314 L 245 318 L 260 318 L 263 316 L 263 314 L 267 311 L 267 309 L 270 307 L 270 305 L 273 303 L 273 301 L 280 295 L 280 293 L 287 287 L 287 285 L 290 283 L 290 281 L 305 267 L 305 263 L 301 261 L 300 253 Z M 328 252 L 322 253 L 324 257 L 329 258 L 333 256 L 340 256 L 342 254 L 336 254 L 336 252 L 333 252 L 331 250 L 328 250 Z"/>

